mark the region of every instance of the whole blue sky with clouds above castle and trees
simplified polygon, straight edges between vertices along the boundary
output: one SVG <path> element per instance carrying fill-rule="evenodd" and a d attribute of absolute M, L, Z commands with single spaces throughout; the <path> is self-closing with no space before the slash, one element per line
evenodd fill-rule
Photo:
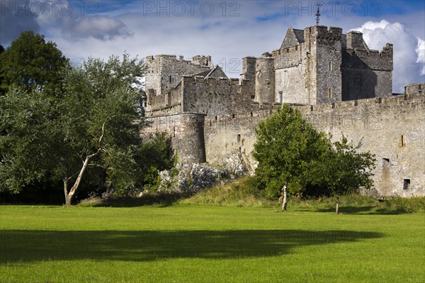
<path fill-rule="evenodd" d="M 280 48 L 290 26 L 358 30 L 370 49 L 394 45 L 393 92 L 425 82 L 425 1 L 35 1 L 0 0 L 0 43 L 23 30 L 45 35 L 74 65 L 128 52 L 211 55 L 229 77 L 242 58 Z"/>

